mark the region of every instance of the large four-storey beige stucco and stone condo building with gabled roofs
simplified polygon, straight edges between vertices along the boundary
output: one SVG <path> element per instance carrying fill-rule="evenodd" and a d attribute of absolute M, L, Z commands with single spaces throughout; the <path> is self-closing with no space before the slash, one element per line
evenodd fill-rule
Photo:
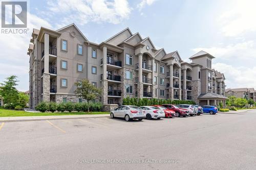
<path fill-rule="evenodd" d="M 201 51 L 190 57 L 191 63 L 183 62 L 177 51 L 157 50 L 149 37 L 129 28 L 97 44 L 74 24 L 56 31 L 41 27 L 33 29 L 30 42 L 32 108 L 40 101 L 82 102 L 74 93 L 81 79 L 102 88 L 106 108 L 127 96 L 202 105 L 226 100 L 224 75 L 211 68 L 213 56 Z"/>

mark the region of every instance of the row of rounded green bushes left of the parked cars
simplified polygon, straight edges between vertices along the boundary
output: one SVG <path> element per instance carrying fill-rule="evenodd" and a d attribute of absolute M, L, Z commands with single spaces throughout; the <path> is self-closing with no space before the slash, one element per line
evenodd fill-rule
<path fill-rule="evenodd" d="M 90 103 L 90 111 L 101 111 L 102 110 L 102 104 L 101 103 Z M 88 104 L 87 103 L 55 103 L 55 102 L 41 102 L 36 107 L 35 110 L 40 112 L 64 112 L 64 111 L 88 111 Z"/>

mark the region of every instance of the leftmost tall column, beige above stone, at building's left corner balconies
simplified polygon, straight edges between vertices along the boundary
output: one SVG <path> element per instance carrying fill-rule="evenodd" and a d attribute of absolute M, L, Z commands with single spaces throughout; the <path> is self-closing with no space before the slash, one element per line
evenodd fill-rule
<path fill-rule="evenodd" d="M 44 74 L 42 75 L 42 100 L 50 102 L 49 34 L 45 34 Z"/>

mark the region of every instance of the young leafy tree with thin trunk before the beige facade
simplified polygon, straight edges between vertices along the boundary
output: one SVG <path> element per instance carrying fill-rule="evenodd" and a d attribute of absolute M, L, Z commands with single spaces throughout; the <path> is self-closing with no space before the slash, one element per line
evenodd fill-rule
<path fill-rule="evenodd" d="M 90 101 L 96 100 L 99 98 L 101 94 L 101 89 L 98 89 L 94 85 L 92 85 L 89 80 L 83 79 L 82 81 L 75 82 L 75 86 L 77 89 L 75 93 L 88 103 L 88 112 L 90 111 Z"/>

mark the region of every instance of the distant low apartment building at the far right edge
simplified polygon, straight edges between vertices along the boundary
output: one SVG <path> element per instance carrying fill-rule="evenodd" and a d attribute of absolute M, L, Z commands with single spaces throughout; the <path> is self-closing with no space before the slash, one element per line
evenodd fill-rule
<path fill-rule="evenodd" d="M 226 96 L 236 96 L 237 98 L 252 99 L 256 102 L 256 90 L 254 88 L 228 88 Z"/>

